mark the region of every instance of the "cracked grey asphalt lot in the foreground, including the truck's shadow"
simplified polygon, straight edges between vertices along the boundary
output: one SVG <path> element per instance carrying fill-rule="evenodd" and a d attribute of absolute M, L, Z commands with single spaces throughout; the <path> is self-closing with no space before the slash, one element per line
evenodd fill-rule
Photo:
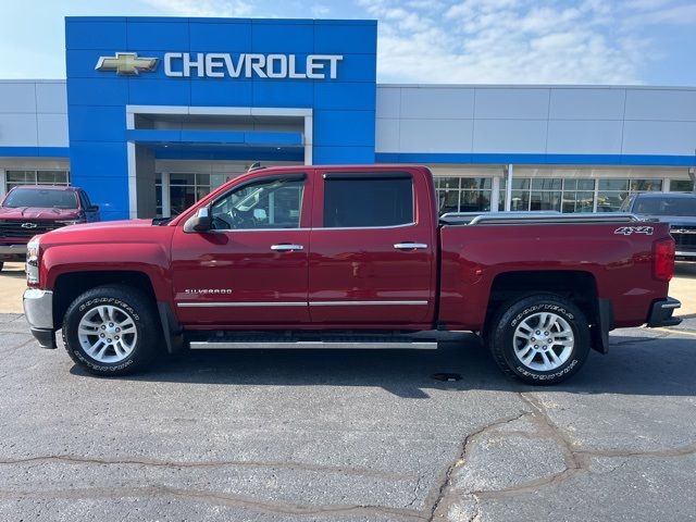
<path fill-rule="evenodd" d="M 617 331 L 551 388 L 474 336 L 107 380 L 0 314 L 0 520 L 696 520 L 696 320 L 680 328 Z"/>

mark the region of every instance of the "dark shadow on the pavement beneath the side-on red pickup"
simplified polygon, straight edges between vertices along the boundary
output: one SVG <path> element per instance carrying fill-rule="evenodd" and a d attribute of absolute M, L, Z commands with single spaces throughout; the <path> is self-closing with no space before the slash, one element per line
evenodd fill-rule
<path fill-rule="evenodd" d="M 695 396 L 694 348 L 693 337 L 612 335 L 607 356 L 592 351 L 576 375 L 552 387 L 529 386 L 506 377 L 474 335 L 422 351 L 192 351 L 163 360 L 146 373 L 117 378 L 235 386 L 369 386 L 411 399 L 427 399 L 428 390 L 434 389 Z M 88 375 L 78 366 L 71 372 Z M 443 372 L 459 374 L 461 380 L 433 378 Z"/>

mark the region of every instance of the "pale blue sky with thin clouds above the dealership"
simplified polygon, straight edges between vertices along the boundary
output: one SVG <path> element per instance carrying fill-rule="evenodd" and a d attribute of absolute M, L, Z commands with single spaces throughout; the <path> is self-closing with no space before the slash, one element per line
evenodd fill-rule
<path fill-rule="evenodd" d="M 694 0 L 0 0 L 0 78 L 65 77 L 71 15 L 377 20 L 380 83 L 696 86 Z"/>

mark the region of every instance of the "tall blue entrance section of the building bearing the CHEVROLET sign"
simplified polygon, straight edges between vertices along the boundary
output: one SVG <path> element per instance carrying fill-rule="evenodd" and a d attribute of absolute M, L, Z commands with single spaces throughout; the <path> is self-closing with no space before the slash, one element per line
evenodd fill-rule
<path fill-rule="evenodd" d="M 65 36 L 71 183 L 105 219 L 153 212 L 152 158 L 374 162 L 376 22 L 69 17 Z"/>

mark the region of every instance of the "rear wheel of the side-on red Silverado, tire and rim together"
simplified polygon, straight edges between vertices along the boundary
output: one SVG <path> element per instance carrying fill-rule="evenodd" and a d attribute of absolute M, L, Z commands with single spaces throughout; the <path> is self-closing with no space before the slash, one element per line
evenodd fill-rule
<path fill-rule="evenodd" d="M 538 294 L 500 307 L 489 347 L 500 369 L 530 384 L 556 384 L 573 375 L 589 353 L 583 312 L 554 294 Z"/>

